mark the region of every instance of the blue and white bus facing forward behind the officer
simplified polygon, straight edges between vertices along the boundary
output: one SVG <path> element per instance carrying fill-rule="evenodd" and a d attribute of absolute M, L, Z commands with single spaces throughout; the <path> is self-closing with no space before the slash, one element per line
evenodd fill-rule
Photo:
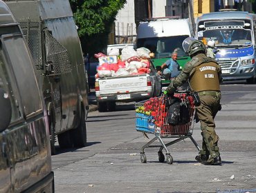
<path fill-rule="evenodd" d="M 256 14 L 241 11 L 210 12 L 196 21 L 196 38 L 216 42 L 216 60 L 223 81 L 255 83 Z"/>

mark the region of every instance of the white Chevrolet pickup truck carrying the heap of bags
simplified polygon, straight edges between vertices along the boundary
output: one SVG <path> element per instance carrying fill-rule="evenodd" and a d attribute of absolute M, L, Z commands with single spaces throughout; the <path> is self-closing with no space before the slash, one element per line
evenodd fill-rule
<path fill-rule="evenodd" d="M 149 74 L 104 77 L 95 79 L 98 111 L 116 110 L 116 102 L 143 101 L 161 94 L 161 76 L 154 65 Z"/>

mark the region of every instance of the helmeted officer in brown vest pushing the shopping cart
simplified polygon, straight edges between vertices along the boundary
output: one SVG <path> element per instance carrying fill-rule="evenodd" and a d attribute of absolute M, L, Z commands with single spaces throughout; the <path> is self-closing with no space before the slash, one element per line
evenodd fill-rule
<path fill-rule="evenodd" d="M 183 49 L 191 60 L 165 90 L 165 94 L 173 94 L 176 88 L 189 81 L 191 90 L 198 93 L 201 104 L 196 106 L 196 116 L 201 123 L 203 136 L 202 150 L 196 161 L 205 165 L 221 165 L 218 141 L 219 136 L 214 128 L 214 117 L 220 108 L 221 67 L 217 61 L 206 56 L 203 42 L 188 37 L 182 43 Z"/>

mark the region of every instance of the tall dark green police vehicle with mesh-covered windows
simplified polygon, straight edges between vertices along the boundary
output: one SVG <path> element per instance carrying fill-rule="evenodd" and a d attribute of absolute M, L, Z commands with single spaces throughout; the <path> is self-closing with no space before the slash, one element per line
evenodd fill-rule
<path fill-rule="evenodd" d="M 68 0 L 4 0 L 35 61 L 49 116 L 51 150 L 86 146 L 88 78 Z M 32 101 L 33 102 L 33 101 Z"/>

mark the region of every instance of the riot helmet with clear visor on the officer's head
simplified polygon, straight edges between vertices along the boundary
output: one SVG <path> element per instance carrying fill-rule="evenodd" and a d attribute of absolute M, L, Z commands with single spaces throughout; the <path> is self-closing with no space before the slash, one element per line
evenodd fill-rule
<path fill-rule="evenodd" d="M 188 54 L 188 56 L 191 56 L 192 54 L 199 51 L 206 52 L 206 48 L 203 42 L 192 37 L 184 39 L 182 47 L 185 53 Z"/>

